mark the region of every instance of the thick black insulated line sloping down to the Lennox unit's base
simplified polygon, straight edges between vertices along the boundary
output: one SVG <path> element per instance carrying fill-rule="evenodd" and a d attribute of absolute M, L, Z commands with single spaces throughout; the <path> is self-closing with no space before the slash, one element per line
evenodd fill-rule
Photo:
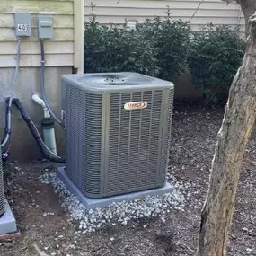
<path fill-rule="evenodd" d="M 35 138 L 37 145 L 40 148 L 41 154 L 51 162 L 55 163 L 65 163 L 65 159 L 53 154 L 49 148 L 45 145 L 42 138 L 40 137 L 40 133 L 36 126 L 34 125 L 33 121 L 31 120 L 30 116 L 28 115 L 27 111 L 23 108 L 22 102 L 19 99 L 13 99 L 13 105 L 20 111 L 22 115 L 22 119 L 27 123 L 28 127 L 31 130 L 32 136 Z"/>

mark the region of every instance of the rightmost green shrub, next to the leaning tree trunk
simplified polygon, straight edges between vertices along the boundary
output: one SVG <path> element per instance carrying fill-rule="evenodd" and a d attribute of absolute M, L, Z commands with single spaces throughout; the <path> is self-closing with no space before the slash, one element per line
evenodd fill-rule
<path fill-rule="evenodd" d="M 244 53 L 244 40 L 228 26 L 207 26 L 190 40 L 193 84 L 207 104 L 225 102 Z"/>

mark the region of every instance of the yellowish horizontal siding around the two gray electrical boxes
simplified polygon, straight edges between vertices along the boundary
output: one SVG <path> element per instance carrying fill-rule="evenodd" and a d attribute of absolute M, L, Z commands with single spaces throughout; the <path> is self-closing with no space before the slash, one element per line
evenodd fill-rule
<path fill-rule="evenodd" d="M 40 43 L 37 29 L 38 14 L 53 15 L 54 38 L 45 40 L 46 66 L 74 66 L 75 25 L 73 0 L 1 0 L 1 67 L 15 65 L 16 36 L 13 13 L 32 13 L 32 36 L 22 38 L 22 67 L 40 66 Z"/>

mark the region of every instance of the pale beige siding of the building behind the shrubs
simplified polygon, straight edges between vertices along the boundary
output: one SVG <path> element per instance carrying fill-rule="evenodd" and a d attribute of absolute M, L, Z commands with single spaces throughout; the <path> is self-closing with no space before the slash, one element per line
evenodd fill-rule
<path fill-rule="evenodd" d="M 126 20 L 144 22 L 146 19 L 154 19 L 155 16 L 163 17 L 167 5 L 171 9 L 172 19 L 190 21 L 191 29 L 199 31 L 202 25 L 213 23 L 216 25 L 240 25 L 240 31 L 244 32 L 244 19 L 240 6 L 226 4 L 221 0 L 205 0 L 200 6 L 201 0 L 172 0 L 172 1 L 141 1 L 141 0 L 94 0 L 96 5 L 94 13 L 97 21 L 102 24 L 124 24 Z M 191 19 L 197 8 L 199 10 Z M 85 21 L 91 18 L 90 1 L 84 0 Z"/>

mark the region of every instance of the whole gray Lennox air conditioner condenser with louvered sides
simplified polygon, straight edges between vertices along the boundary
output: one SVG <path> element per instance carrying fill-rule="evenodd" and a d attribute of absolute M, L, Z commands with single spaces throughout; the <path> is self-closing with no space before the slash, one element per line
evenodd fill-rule
<path fill-rule="evenodd" d="M 106 198 L 166 182 L 174 85 L 135 73 L 62 76 L 66 175 Z"/>

